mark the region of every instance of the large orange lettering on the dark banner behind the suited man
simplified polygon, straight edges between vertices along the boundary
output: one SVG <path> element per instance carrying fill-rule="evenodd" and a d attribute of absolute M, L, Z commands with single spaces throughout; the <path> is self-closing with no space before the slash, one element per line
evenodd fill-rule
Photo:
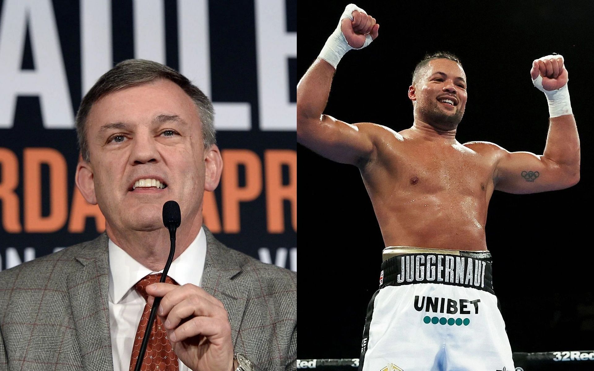
<path fill-rule="evenodd" d="M 285 226 L 297 230 L 297 158 L 294 150 L 266 150 L 263 160 L 251 150 L 228 149 L 222 151 L 223 176 L 221 179 L 222 209 L 219 211 L 215 194 L 204 193 L 204 224 L 214 233 L 241 231 L 240 206 L 263 195 L 266 185 L 266 210 L 258 209 L 264 217 L 266 211 L 268 233 L 283 233 Z M 264 164 L 263 164 L 264 162 Z M 62 229 L 68 220 L 68 232 L 84 233 L 87 218 L 95 219 L 97 232 L 105 230 L 105 217 L 97 205 L 88 204 L 74 187 L 68 214 L 67 163 L 53 148 L 24 148 L 23 150 L 23 219 L 20 222 L 19 163 L 8 148 L 0 147 L 0 207 L 2 229 L 8 233 L 50 233 Z M 49 179 L 42 182 L 42 166 L 48 166 Z M 264 166 L 263 166 L 264 165 Z M 283 183 L 283 167 L 288 180 Z M 241 171 L 245 184 L 240 185 Z M 264 171 L 263 171 L 264 170 Z M 49 188 L 49 214 L 42 215 L 42 187 Z M 290 224 L 285 221 L 283 205 L 290 204 Z M 221 219 L 220 215 L 223 215 Z M 68 218 L 69 215 L 69 218 Z M 251 217 L 251 215 L 250 215 Z"/>

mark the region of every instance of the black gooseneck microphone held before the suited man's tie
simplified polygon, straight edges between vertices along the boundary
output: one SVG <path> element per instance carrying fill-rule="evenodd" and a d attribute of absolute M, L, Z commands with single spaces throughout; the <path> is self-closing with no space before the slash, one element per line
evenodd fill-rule
<path fill-rule="evenodd" d="M 175 201 L 165 202 L 163 205 L 163 225 L 169 230 L 170 249 L 169 258 L 167 258 L 167 263 L 165 264 L 165 268 L 163 268 L 163 274 L 161 274 L 161 279 L 159 281 L 161 283 L 165 282 L 167 272 L 169 272 L 169 267 L 173 261 L 173 255 L 175 255 L 175 232 L 181 223 L 182 214 L 181 211 L 179 211 L 179 204 Z M 150 310 L 149 322 L 147 322 L 147 331 L 144 332 L 143 343 L 140 345 L 140 351 L 138 353 L 134 371 L 140 371 L 140 367 L 143 365 L 144 353 L 146 353 L 147 344 L 149 344 L 150 334 L 153 331 L 154 318 L 157 316 L 157 308 L 161 303 L 161 299 L 161 297 L 154 298 L 153 307 Z"/>

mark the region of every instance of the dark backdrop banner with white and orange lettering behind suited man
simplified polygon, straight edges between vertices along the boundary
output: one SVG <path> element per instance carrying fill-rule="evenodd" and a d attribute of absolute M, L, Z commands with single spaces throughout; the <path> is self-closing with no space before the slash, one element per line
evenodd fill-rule
<path fill-rule="evenodd" d="M 100 75 L 141 58 L 213 100 L 225 166 L 206 226 L 296 271 L 296 43 L 296 1 L 0 0 L 0 268 L 105 230 L 74 185 L 74 117 Z"/>

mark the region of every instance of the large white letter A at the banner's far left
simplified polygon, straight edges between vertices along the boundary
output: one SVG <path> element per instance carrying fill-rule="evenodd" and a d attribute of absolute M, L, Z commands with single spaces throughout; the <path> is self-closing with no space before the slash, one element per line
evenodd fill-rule
<path fill-rule="evenodd" d="M 21 69 L 29 28 L 35 69 Z M 51 0 L 4 0 L 0 17 L 0 129 L 12 128 L 18 96 L 39 96 L 43 126 L 74 128 L 74 110 Z"/>

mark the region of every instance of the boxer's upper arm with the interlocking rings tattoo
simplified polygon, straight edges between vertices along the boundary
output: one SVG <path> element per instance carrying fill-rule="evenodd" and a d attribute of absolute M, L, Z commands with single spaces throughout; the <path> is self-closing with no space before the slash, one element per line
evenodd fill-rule
<path fill-rule="evenodd" d="M 511 194 L 530 194 L 568 188 L 571 177 L 562 166 L 530 152 L 503 150 L 495 170 L 495 189 Z"/>

